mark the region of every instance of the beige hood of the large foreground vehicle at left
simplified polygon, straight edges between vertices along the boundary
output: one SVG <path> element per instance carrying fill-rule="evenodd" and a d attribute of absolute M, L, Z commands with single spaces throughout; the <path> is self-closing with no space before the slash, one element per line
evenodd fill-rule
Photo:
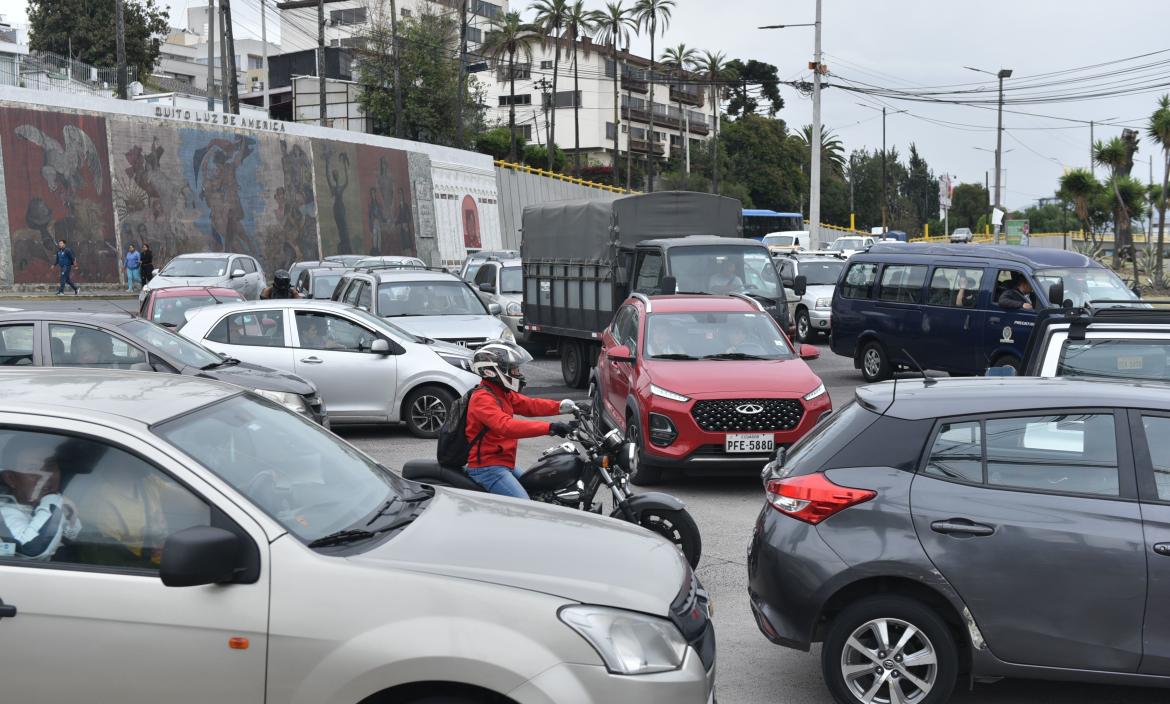
<path fill-rule="evenodd" d="M 350 558 L 667 616 L 687 562 L 633 524 L 546 504 L 436 489 L 402 533 Z"/>

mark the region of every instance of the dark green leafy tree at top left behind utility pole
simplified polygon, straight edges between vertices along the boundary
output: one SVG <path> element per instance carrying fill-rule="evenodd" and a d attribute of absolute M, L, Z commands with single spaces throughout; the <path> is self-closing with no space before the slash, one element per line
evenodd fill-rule
<path fill-rule="evenodd" d="M 116 0 L 28 0 L 28 47 L 98 67 L 117 64 Z M 170 29 L 156 0 L 123 0 L 126 65 L 146 80 Z"/>

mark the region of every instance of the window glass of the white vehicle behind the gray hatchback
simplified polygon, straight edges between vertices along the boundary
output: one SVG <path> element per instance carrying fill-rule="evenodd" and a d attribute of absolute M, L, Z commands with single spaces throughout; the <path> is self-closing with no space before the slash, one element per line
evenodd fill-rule
<path fill-rule="evenodd" d="M 1170 381 L 1170 340 L 1065 340 L 1057 375 Z"/>

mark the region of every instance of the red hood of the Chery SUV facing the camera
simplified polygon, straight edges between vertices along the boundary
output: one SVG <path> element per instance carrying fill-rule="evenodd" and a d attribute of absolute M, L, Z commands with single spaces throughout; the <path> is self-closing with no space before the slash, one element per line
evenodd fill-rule
<path fill-rule="evenodd" d="M 803 359 L 647 360 L 654 386 L 686 396 L 744 394 L 746 398 L 783 394 L 804 395 L 817 388 L 820 378 Z M 768 380 L 766 382 L 763 380 Z"/>

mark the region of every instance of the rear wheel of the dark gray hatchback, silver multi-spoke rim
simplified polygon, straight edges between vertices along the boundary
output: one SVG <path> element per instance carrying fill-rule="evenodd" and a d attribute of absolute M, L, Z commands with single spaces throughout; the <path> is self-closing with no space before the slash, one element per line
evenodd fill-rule
<path fill-rule="evenodd" d="M 886 647 L 893 648 L 910 628 L 915 633 L 899 650 L 882 649 L 881 630 Z M 910 660 L 918 664 L 907 665 Z M 955 636 L 934 609 L 906 596 L 878 595 L 846 607 L 833 619 L 820 664 L 838 704 L 866 702 L 879 681 L 868 700 L 942 704 L 955 689 L 959 663 Z M 890 686 L 900 688 L 901 699 L 890 696 Z"/>

